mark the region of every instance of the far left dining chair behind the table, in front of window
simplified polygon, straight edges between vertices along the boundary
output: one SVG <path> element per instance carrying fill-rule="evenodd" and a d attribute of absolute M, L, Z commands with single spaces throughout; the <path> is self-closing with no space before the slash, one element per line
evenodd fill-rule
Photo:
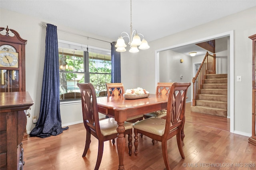
<path fill-rule="evenodd" d="M 122 83 L 106 83 L 108 96 L 122 96 L 124 92 L 124 85 Z M 126 121 L 128 122 L 136 122 L 143 119 L 143 115 L 138 115 L 134 117 L 128 118 Z"/>

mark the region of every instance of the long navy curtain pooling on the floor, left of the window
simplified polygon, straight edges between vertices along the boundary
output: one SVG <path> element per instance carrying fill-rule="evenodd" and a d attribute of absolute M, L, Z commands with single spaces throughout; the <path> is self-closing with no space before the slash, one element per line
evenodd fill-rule
<path fill-rule="evenodd" d="M 47 24 L 46 48 L 44 59 L 44 75 L 40 115 L 36 127 L 32 129 L 31 137 L 50 137 L 59 135 L 63 130 L 60 118 L 60 79 L 57 27 Z"/>

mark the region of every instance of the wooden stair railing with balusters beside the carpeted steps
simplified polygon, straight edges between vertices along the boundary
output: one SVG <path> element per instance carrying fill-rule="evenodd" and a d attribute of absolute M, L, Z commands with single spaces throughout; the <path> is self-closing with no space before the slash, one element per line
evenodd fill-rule
<path fill-rule="evenodd" d="M 202 61 L 196 76 L 193 78 L 193 100 L 192 106 L 196 106 L 198 94 L 201 94 L 206 74 L 216 74 L 216 55 L 210 55 L 206 52 L 204 60 Z"/>

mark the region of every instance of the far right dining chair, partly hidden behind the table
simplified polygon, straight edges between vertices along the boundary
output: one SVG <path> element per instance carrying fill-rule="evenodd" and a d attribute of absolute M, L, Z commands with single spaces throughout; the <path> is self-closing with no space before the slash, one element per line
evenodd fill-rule
<path fill-rule="evenodd" d="M 168 96 L 170 93 L 170 89 L 173 83 L 161 83 L 158 82 L 156 85 L 156 95 L 165 95 Z M 166 109 L 154 111 L 151 113 L 144 114 L 144 118 L 149 117 L 158 117 L 162 119 L 166 119 Z M 154 143 L 153 143 L 154 144 Z"/>

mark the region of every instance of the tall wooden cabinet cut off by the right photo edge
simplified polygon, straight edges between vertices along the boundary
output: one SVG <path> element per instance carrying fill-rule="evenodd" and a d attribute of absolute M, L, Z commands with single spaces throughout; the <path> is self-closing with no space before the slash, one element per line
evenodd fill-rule
<path fill-rule="evenodd" d="M 256 145 L 256 34 L 249 38 L 252 39 L 252 136 L 248 140 Z"/>

